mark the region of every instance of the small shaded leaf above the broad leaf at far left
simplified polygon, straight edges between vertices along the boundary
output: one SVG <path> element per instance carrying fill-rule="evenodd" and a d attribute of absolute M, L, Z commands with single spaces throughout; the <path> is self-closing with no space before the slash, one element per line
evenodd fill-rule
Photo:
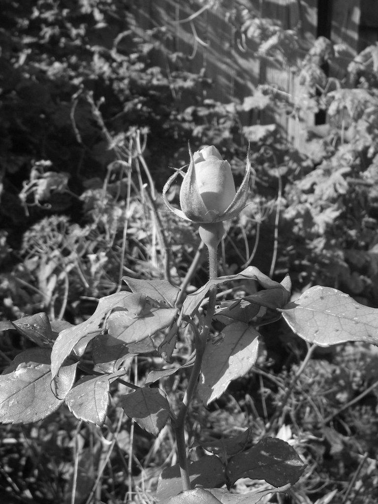
<path fill-rule="evenodd" d="M 11 323 L 17 331 L 40 347 L 51 348 L 57 333 L 53 333 L 47 314 L 43 311 Z"/>

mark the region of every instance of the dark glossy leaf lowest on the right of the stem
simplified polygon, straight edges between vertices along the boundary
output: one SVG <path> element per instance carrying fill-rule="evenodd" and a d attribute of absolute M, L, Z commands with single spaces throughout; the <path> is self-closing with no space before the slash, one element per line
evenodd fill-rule
<path fill-rule="evenodd" d="M 266 437 L 256 446 L 232 457 L 226 467 L 230 485 L 239 478 L 264 479 L 278 487 L 298 481 L 306 465 L 294 448 L 277 437 Z"/>

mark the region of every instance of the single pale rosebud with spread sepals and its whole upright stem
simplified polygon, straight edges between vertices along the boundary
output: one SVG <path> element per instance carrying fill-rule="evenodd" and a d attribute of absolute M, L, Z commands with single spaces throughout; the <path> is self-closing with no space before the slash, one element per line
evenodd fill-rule
<path fill-rule="evenodd" d="M 206 244 L 209 253 L 209 278 L 218 276 L 218 245 L 223 238 L 223 221 L 231 219 L 244 208 L 248 196 L 251 166 L 249 149 L 244 178 L 236 191 L 232 177 L 231 166 L 224 161 L 218 149 L 207 146 L 192 154 L 186 173 L 177 170 L 163 187 L 163 201 L 168 209 L 183 220 L 199 224 L 199 234 Z M 173 207 L 167 200 L 166 193 L 178 175 L 183 177 L 180 188 L 180 206 Z M 191 489 L 188 461 L 185 445 L 185 419 L 190 403 L 196 392 L 206 342 L 209 337 L 211 323 L 215 312 L 217 286 L 212 284 L 209 289 L 209 302 L 201 332 L 192 325 L 195 334 L 196 358 L 190 379 L 180 406 L 177 419 L 174 421 L 177 455 L 180 467 L 183 490 Z"/>

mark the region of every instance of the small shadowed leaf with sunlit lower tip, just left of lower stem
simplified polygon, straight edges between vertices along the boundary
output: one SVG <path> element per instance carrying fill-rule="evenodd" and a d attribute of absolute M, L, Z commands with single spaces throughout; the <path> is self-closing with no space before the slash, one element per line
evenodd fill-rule
<path fill-rule="evenodd" d="M 121 406 L 142 429 L 157 436 L 169 417 L 169 403 L 160 389 L 143 388 L 121 397 Z"/>

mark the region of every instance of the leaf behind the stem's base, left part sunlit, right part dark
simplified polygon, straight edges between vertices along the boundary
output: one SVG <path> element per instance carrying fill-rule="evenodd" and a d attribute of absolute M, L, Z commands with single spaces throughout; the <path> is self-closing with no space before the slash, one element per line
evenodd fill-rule
<path fill-rule="evenodd" d="M 224 465 L 215 455 L 206 455 L 195 462 L 189 463 L 191 486 L 196 485 L 214 488 L 225 482 Z M 158 500 L 167 499 L 182 491 L 179 465 L 167 467 L 159 476 L 156 497 Z"/>

